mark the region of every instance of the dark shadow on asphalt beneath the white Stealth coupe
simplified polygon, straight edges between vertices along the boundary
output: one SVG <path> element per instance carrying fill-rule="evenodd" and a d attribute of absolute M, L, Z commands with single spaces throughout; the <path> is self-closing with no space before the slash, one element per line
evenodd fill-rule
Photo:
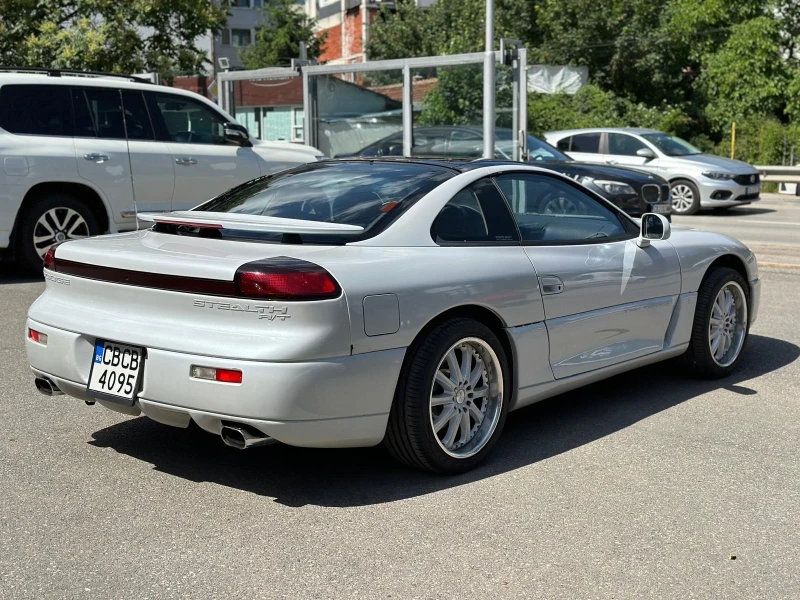
<path fill-rule="evenodd" d="M 247 451 L 225 446 L 195 428 L 174 429 L 146 417 L 93 434 L 108 447 L 176 477 L 224 485 L 274 498 L 286 506 L 352 507 L 403 500 L 465 485 L 569 452 L 714 389 L 751 401 L 758 391 L 743 382 L 797 360 L 790 342 L 751 335 L 740 368 L 716 381 L 680 374 L 670 361 L 631 371 L 545 400 L 509 415 L 493 454 L 477 469 L 455 477 L 432 475 L 395 463 L 382 447 L 307 449 L 282 444 Z"/>

